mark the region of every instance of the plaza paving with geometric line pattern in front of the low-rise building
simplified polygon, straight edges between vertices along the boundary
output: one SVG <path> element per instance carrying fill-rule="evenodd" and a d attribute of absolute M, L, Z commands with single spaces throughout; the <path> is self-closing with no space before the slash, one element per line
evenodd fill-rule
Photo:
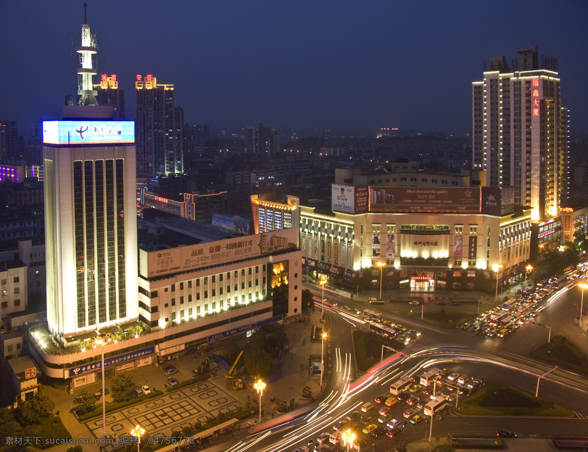
<path fill-rule="evenodd" d="M 106 415 L 106 434 L 116 437 L 128 436 L 137 424 L 146 430 L 146 436 L 169 435 L 173 430 L 182 430 L 196 422 L 206 423 L 209 417 L 234 411 L 243 404 L 233 394 L 211 381 L 165 394 L 156 399 Z M 85 423 L 94 436 L 102 436 L 102 417 Z"/>

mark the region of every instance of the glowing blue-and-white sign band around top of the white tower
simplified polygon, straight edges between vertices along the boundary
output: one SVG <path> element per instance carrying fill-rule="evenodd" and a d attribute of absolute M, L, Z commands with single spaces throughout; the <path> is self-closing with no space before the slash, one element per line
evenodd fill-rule
<path fill-rule="evenodd" d="M 43 142 L 48 145 L 135 143 L 134 121 L 43 121 Z"/>

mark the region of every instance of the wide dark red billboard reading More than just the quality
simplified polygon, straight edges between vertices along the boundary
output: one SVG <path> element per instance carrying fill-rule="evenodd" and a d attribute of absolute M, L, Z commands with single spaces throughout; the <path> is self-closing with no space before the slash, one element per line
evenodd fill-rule
<path fill-rule="evenodd" d="M 480 188 L 370 187 L 370 212 L 480 212 Z"/>

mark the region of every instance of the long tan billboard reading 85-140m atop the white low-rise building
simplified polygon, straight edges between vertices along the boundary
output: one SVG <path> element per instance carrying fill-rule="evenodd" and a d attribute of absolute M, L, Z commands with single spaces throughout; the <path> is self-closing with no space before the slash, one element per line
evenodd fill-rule
<path fill-rule="evenodd" d="M 142 276 L 153 277 L 250 259 L 296 249 L 296 236 L 297 230 L 290 228 L 166 250 L 140 250 L 139 269 Z"/>

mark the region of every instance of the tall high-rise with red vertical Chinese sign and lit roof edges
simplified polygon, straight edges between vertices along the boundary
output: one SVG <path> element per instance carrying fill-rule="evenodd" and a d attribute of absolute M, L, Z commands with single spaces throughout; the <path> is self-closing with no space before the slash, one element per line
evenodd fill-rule
<path fill-rule="evenodd" d="M 513 187 L 533 220 L 559 214 L 569 196 L 569 112 L 560 102 L 557 59 L 523 48 L 508 62 L 490 58 L 472 83 L 473 169 L 490 187 Z"/>

